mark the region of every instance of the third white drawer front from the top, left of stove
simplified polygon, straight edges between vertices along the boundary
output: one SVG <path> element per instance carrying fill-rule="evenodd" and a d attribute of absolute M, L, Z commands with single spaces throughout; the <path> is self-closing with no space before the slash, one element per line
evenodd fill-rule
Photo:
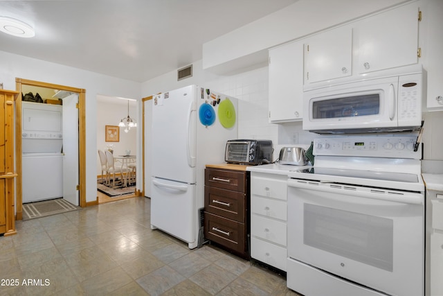
<path fill-rule="evenodd" d="M 271 243 L 287 244 L 287 225 L 284 222 L 251 215 L 251 236 L 262 238 Z"/>

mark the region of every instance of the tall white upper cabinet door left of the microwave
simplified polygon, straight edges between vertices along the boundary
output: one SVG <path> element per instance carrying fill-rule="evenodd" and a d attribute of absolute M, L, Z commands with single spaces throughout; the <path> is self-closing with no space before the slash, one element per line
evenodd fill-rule
<path fill-rule="evenodd" d="M 269 122 L 302 119 L 302 76 L 301 42 L 269 50 Z"/>

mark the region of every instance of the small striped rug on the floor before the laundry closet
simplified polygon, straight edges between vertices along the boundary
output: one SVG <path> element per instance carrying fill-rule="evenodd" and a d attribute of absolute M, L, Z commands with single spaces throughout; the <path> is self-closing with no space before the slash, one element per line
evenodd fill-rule
<path fill-rule="evenodd" d="M 44 200 L 42 202 L 30 202 L 23 204 L 23 220 L 52 216 L 68 211 L 76 211 L 78 209 L 82 208 L 71 204 L 71 202 L 66 202 L 63 198 Z"/>

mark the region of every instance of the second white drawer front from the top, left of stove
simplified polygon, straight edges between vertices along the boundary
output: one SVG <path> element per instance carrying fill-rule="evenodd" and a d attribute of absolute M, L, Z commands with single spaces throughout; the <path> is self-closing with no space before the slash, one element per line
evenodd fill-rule
<path fill-rule="evenodd" d="M 287 220 L 287 202 L 284 200 L 270 200 L 253 195 L 251 197 L 251 212 L 269 218 Z"/>

